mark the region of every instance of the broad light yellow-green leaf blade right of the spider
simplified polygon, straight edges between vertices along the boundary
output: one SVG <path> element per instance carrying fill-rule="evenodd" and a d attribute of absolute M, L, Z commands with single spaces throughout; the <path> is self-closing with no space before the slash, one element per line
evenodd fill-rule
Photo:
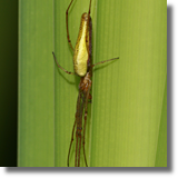
<path fill-rule="evenodd" d="M 96 60 L 120 59 L 95 72 L 91 165 L 155 166 L 167 76 L 166 1 L 98 1 L 98 9 Z"/>

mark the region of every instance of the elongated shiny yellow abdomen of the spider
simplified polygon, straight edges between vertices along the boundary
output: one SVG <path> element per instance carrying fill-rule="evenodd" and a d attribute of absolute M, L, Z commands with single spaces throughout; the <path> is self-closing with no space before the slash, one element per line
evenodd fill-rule
<path fill-rule="evenodd" d="M 83 13 L 81 17 L 79 36 L 77 39 L 77 43 L 75 47 L 75 55 L 73 55 L 75 72 L 80 77 L 83 77 L 87 72 L 87 60 L 89 57 L 86 43 L 86 37 L 88 32 L 87 22 L 88 22 L 88 13 Z"/>

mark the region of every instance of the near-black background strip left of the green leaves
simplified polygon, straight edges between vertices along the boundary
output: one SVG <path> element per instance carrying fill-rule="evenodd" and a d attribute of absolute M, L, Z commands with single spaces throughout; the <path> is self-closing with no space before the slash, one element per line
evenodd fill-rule
<path fill-rule="evenodd" d="M 0 167 L 17 166 L 18 0 L 0 0 Z"/>

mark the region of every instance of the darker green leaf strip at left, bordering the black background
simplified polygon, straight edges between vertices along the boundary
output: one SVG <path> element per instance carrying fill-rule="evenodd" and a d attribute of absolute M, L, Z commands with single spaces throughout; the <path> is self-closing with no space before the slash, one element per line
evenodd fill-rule
<path fill-rule="evenodd" d="M 19 1 L 19 167 L 53 166 L 52 18 L 52 1 Z"/>

